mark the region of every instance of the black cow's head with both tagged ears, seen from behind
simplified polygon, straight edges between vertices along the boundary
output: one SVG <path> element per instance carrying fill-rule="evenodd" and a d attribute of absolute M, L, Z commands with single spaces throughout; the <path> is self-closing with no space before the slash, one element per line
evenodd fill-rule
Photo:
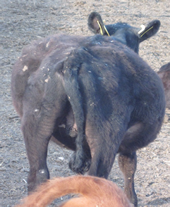
<path fill-rule="evenodd" d="M 153 20 L 146 26 L 142 25 L 141 29 L 121 22 L 104 25 L 100 14 L 92 12 L 88 18 L 88 27 L 95 34 L 113 36 L 114 39 L 122 42 L 138 53 L 139 44 L 157 33 L 160 27 L 160 21 Z"/>

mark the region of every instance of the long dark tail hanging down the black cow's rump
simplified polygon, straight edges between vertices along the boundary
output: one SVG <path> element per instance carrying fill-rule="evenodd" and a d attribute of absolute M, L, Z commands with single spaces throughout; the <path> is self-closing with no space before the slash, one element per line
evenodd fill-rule
<path fill-rule="evenodd" d="M 88 170 L 88 161 L 90 157 L 90 151 L 85 139 L 85 114 L 82 94 L 80 91 L 80 83 L 78 80 L 79 71 L 84 61 L 83 52 L 84 51 L 82 49 L 73 51 L 64 62 L 63 67 L 64 87 L 71 104 L 77 126 L 76 152 L 73 154 L 69 163 L 71 170 L 76 173 L 84 173 Z"/>

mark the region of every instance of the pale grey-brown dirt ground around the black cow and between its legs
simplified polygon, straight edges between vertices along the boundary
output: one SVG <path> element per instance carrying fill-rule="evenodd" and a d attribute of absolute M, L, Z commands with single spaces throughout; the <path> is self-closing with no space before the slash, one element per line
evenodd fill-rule
<path fill-rule="evenodd" d="M 140 46 L 140 56 L 157 71 L 170 61 L 169 0 L 0 0 L 0 206 L 15 205 L 26 195 L 29 171 L 20 120 L 11 102 L 10 79 L 14 62 L 32 40 L 64 32 L 92 35 L 87 17 L 98 11 L 106 24 L 118 21 L 140 26 L 153 19 L 161 28 Z M 170 112 L 166 111 L 170 118 Z M 170 121 L 157 139 L 138 151 L 135 187 L 139 206 L 170 206 Z M 69 176 L 72 152 L 50 143 L 48 166 L 51 177 Z M 117 159 L 109 179 L 123 187 Z"/>

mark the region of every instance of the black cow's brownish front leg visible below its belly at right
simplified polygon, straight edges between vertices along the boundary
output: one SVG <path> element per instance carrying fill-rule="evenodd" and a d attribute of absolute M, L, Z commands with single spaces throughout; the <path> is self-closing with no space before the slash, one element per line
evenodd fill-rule
<path fill-rule="evenodd" d="M 119 154 L 119 167 L 124 174 L 124 192 L 128 199 L 134 206 L 137 206 L 137 196 L 134 188 L 134 175 L 136 171 L 137 157 L 136 152 L 120 153 Z"/>

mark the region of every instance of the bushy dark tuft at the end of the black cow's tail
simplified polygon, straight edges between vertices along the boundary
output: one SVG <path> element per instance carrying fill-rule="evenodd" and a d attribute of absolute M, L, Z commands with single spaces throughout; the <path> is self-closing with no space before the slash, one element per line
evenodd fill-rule
<path fill-rule="evenodd" d="M 69 167 L 78 174 L 84 174 L 90 168 L 91 160 L 84 153 L 73 153 L 71 156 Z"/>

